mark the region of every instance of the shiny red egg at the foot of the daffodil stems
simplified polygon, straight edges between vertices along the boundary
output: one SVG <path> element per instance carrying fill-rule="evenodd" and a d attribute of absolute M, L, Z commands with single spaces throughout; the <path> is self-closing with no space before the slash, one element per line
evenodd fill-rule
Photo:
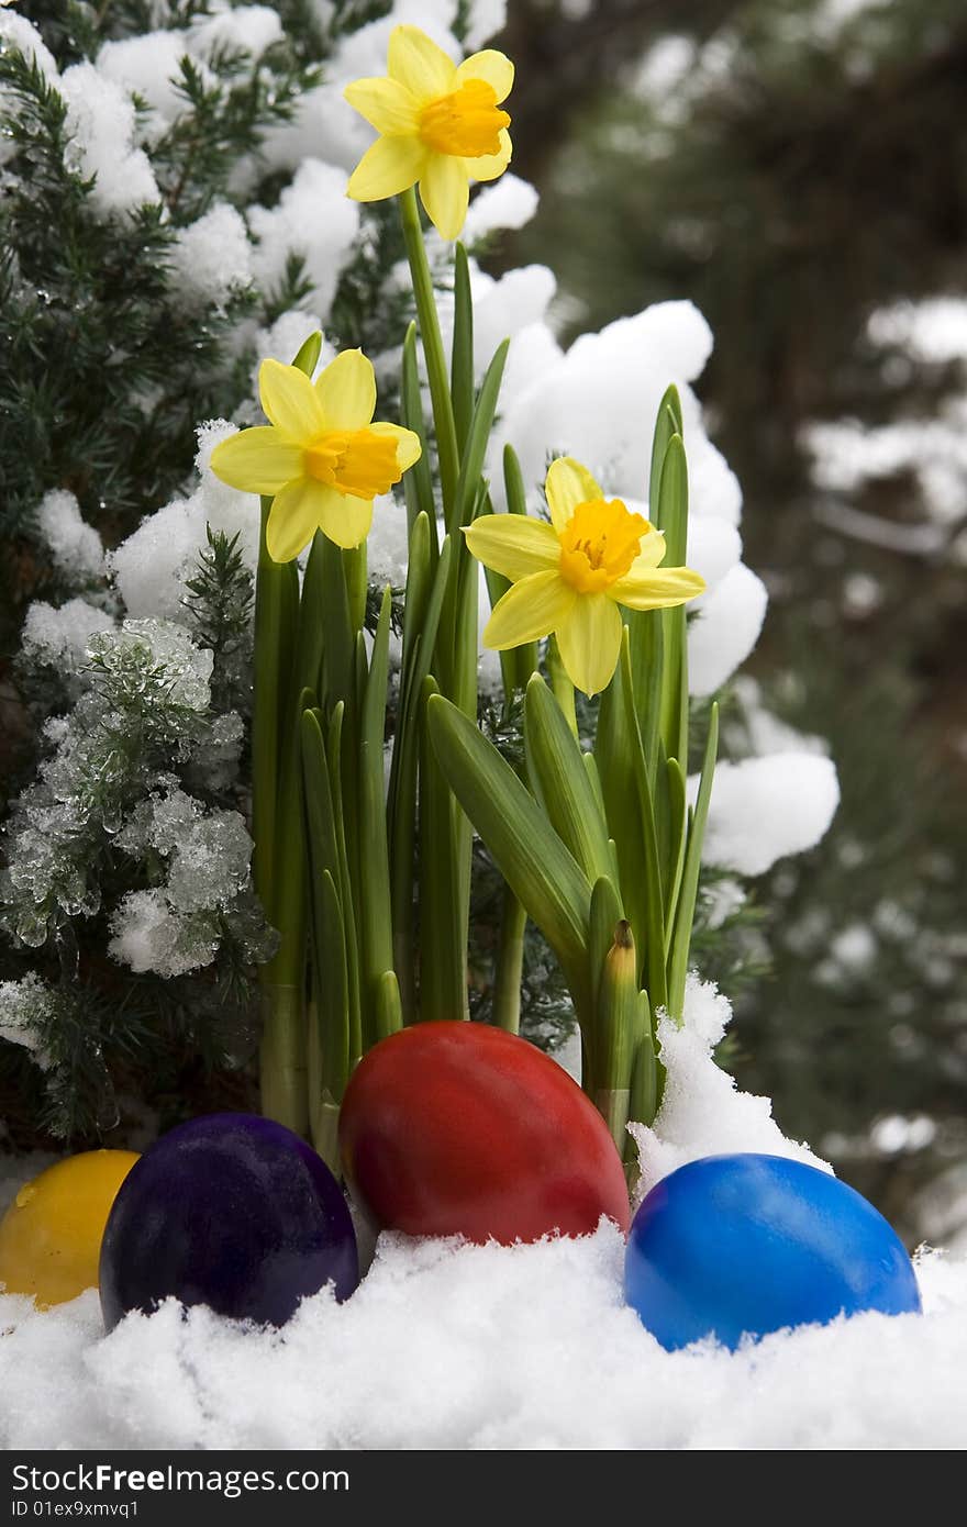
<path fill-rule="evenodd" d="M 353 1072 L 339 1145 L 354 1196 L 408 1235 L 503 1245 L 628 1229 L 625 1171 L 600 1113 L 527 1040 L 483 1023 L 417 1023 Z"/>

